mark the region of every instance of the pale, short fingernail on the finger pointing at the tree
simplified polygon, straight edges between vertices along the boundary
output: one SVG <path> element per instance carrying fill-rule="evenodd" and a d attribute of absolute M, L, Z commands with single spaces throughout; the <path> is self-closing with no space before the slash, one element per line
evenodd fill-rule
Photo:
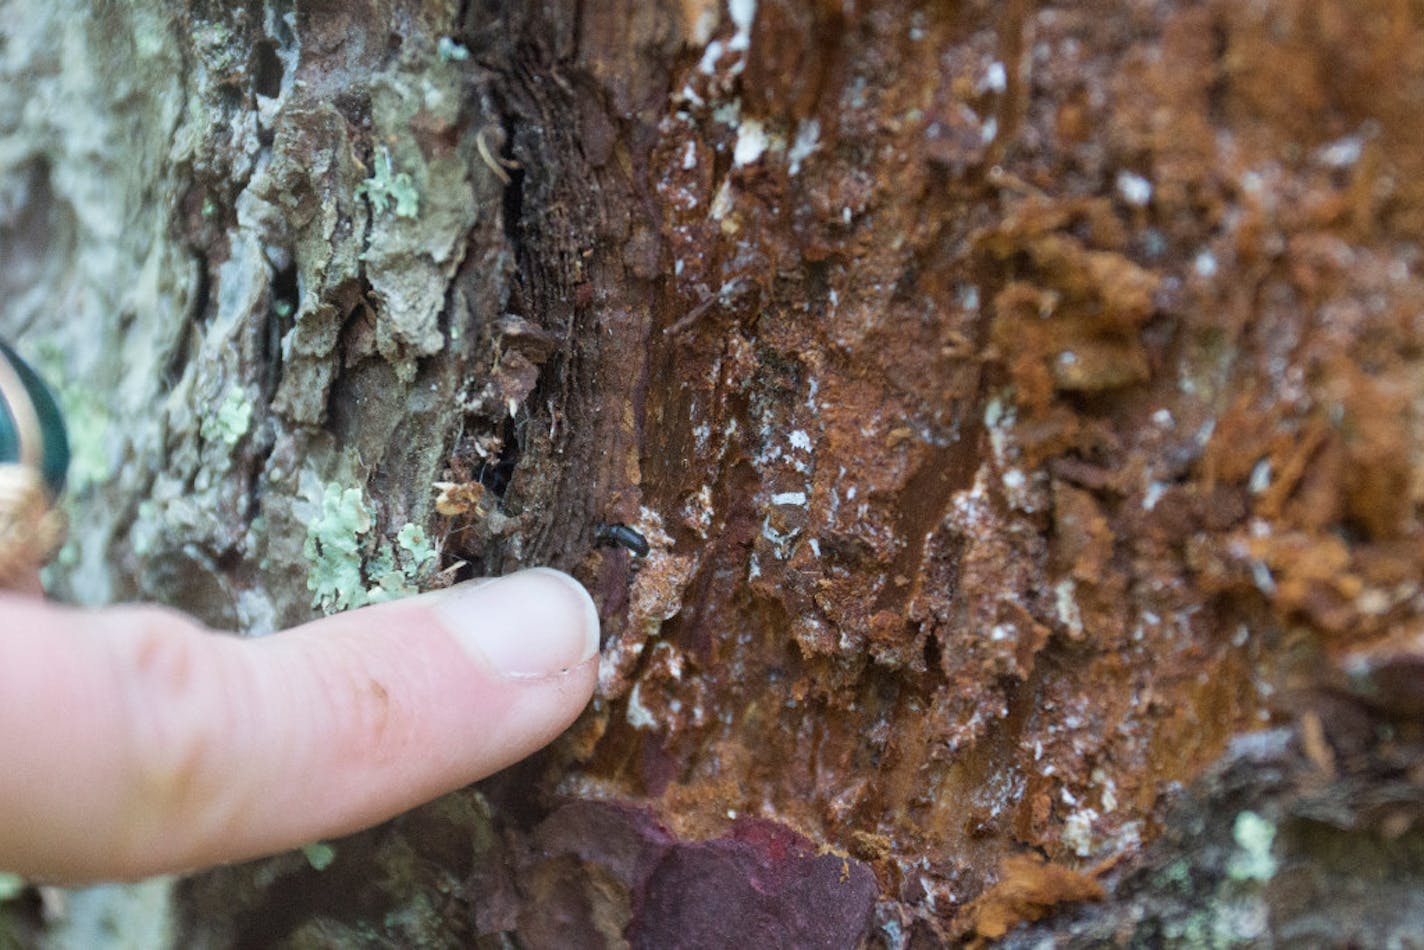
<path fill-rule="evenodd" d="M 594 601 L 562 571 L 535 567 L 467 581 L 431 600 L 460 644 L 506 677 L 548 677 L 598 654 Z"/>

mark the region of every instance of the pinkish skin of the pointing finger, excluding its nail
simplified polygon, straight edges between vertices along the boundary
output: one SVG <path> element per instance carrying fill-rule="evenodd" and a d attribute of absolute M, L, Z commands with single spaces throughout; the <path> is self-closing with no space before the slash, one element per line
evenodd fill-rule
<path fill-rule="evenodd" d="M 345 835 L 587 705 L 597 659 L 501 677 L 419 600 L 244 641 L 0 594 L 0 869 L 132 879 Z"/>

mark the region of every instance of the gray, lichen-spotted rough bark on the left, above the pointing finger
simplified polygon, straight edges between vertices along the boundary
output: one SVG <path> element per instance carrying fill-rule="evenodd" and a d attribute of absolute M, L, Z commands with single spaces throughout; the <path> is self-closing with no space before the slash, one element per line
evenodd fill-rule
<path fill-rule="evenodd" d="M 453 7 L 399 50 L 389 14 L 0 10 L 0 333 L 74 446 L 57 597 L 261 635 L 441 583 L 431 486 L 527 395 L 487 386 L 504 134 L 441 46 Z M 117 893 L 71 899 L 75 943 Z"/>

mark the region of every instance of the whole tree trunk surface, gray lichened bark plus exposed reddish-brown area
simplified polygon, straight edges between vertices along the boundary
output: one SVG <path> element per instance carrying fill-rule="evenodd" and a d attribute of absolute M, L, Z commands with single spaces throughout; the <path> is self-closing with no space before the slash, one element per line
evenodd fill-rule
<path fill-rule="evenodd" d="M 262 635 L 554 564 L 605 624 L 548 753 L 182 882 L 181 946 L 1424 926 L 1418 6 L 0 17 L 54 590 Z"/>

